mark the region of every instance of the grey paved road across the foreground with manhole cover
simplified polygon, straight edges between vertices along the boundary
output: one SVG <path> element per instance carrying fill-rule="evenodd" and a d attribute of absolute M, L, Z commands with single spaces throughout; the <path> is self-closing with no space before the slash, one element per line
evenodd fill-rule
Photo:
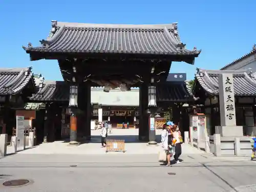
<path fill-rule="evenodd" d="M 182 163 L 166 167 L 157 162 L 156 154 L 10 155 L 0 159 L 0 183 L 32 182 L 20 187 L 1 185 L 0 191 L 256 191 L 255 162 L 208 154 L 181 158 Z"/>

